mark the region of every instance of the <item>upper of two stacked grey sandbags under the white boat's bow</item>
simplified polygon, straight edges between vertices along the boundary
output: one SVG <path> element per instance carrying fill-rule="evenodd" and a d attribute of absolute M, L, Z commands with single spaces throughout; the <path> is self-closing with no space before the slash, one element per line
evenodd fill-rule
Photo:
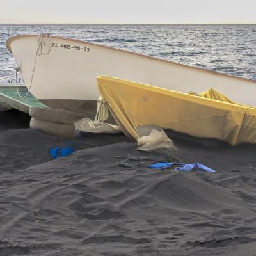
<path fill-rule="evenodd" d="M 76 115 L 72 112 L 61 110 L 61 109 L 52 109 L 52 108 L 29 108 L 29 116 L 39 120 L 50 121 L 60 124 L 69 124 L 72 125 L 77 120 L 81 120 L 83 116 Z"/>

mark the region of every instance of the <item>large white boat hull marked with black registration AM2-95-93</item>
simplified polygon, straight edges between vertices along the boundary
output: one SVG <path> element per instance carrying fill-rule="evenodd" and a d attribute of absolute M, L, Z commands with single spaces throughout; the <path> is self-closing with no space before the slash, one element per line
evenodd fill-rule
<path fill-rule="evenodd" d="M 29 88 L 38 36 L 13 36 L 6 45 Z M 52 108 L 87 115 L 99 97 L 95 79 L 99 75 L 122 77 L 178 92 L 199 93 L 213 87 L 236 102 L 256 106 L 256 81 L 250 79 L 58 36 L 51 36 L 50 47 L 42 48 L 43 52 L 51 51 L 37 56 L 31 93 Z M 90 115 L 94 113 L 91 111 Z"/>

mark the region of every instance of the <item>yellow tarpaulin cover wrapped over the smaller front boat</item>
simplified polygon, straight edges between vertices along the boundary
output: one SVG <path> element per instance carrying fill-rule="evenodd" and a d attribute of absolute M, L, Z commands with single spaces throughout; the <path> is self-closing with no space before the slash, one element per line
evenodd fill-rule
<path fill-rule="evenodd" d="M 235 104 L 212 88 L 198 97 L 109 76 L 97 81 L 118 125 L 136 140 L 136 127 L 157 125 L 231 145 L 256 143 L 256 109 Z"/>

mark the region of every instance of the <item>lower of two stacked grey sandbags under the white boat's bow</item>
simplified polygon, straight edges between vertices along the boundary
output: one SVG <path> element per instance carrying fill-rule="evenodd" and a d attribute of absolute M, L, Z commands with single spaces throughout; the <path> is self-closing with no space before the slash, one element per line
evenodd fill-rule
<path fill-rule="evenodd" d="M 31 118 L 30 128 L 40 129 L 46 133 L 72 138 L 75 136 L 75 126 L 70 124 L 60 124 L 55 122 L 49 122 L 36 118 Z"/>

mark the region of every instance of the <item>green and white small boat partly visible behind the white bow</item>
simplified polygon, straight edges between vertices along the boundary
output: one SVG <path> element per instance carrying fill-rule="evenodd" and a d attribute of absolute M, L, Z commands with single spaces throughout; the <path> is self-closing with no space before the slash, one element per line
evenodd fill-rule
<path fill-rule="evenodd" d="M 26 86 L 19 86 L 20 95 L 26 95 L 28 89 Z M 37 100 L 31 93 L 26 98 L 21 98 L 17 93 L 16 86 L 0 86 L 0 109 L 18 109 L 19 111 L 29 113 L 30 107 L 48 108 L 45 104 Z"/>

